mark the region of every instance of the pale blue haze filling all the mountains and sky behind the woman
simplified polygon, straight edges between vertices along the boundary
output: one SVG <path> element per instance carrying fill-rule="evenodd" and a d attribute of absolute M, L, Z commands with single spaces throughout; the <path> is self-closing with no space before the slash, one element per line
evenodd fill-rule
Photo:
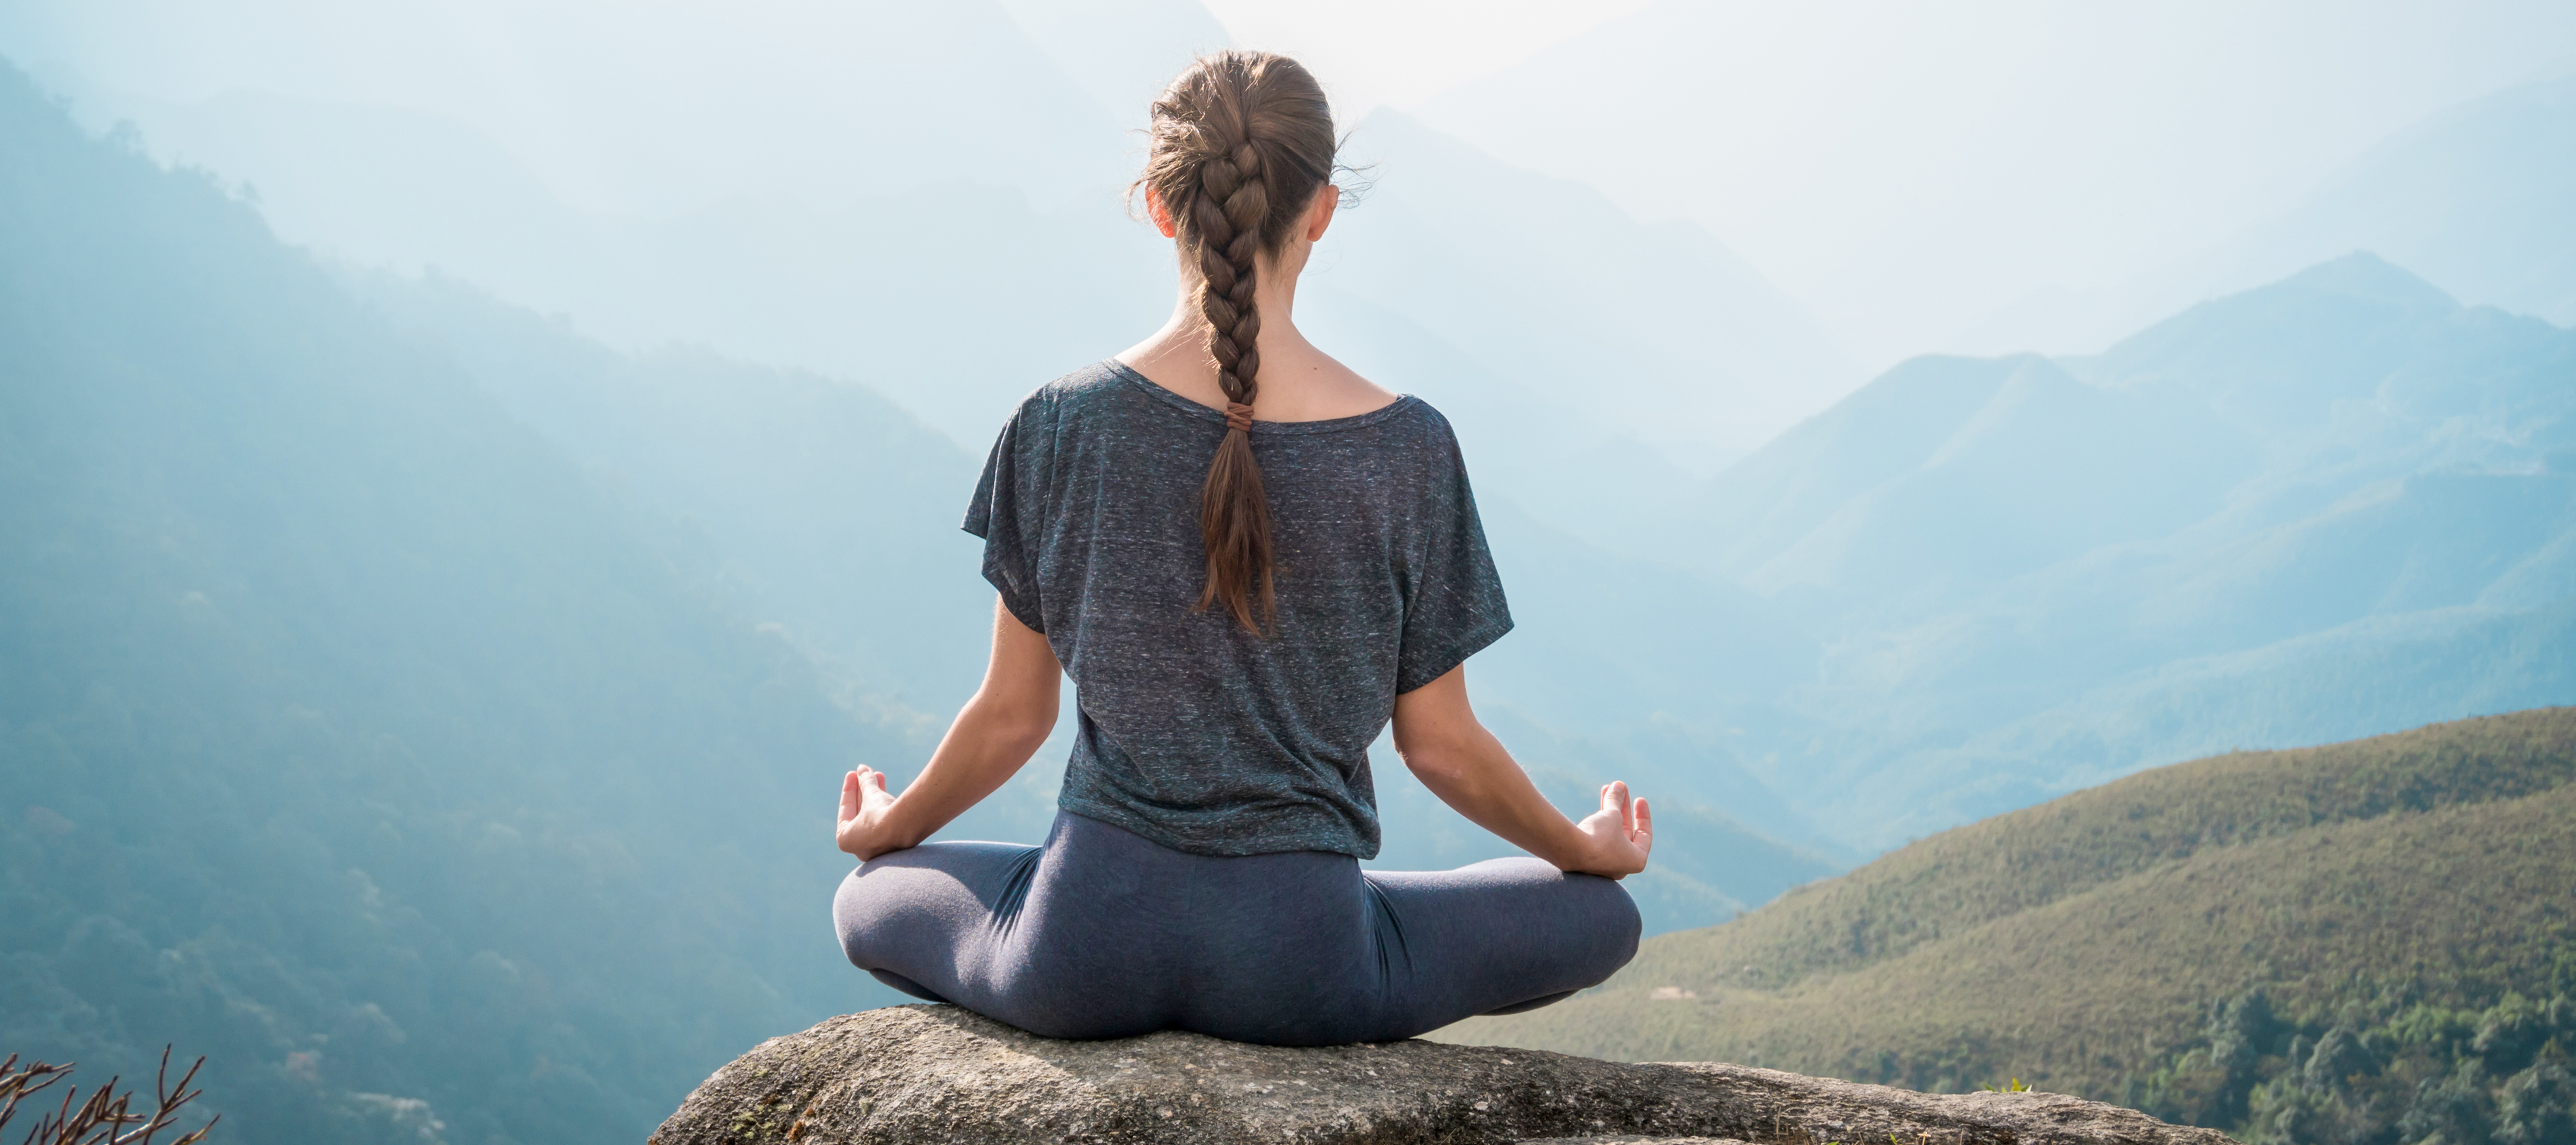
<path fill-rule="evenodd" d="M 976 467 L 1170 315 L 1221 44 L 1340 101 L 1298 325 L 1458 428 L 1476 709 L 1656 799 L 1649 934 L 2576 704 L 2568 3 L 0 0 L 10 1047 L 639 1140 L 894 1001 L 824 799 L 974 691 Z"/>

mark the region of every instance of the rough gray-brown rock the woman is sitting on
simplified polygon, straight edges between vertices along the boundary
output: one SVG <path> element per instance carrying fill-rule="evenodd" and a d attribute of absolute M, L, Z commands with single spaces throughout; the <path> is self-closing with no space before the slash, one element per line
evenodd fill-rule
<path fill-rule="evenodd" d="M 2233 1145 L 2058 1093 L 1932 1096 L 1741 1065 L 1620 1065 L 1435 1042 L 1283 1050 L 1198 1034 L 1056 1042 L 956 1006 L 773 1037 L 652 1145 Z"/>

